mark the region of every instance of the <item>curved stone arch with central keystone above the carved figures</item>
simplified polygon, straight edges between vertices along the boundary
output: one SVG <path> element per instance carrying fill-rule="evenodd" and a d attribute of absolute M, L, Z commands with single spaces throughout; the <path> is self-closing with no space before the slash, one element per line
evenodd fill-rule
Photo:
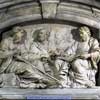
<path fill-rule="evenodd" d="M 99 2 L 95 0 L 2 0 L 0 3 L 0 30 L 26 21 L 58 19 L 100 28 Z M 47 9 L 52 6 L 53 9 Z M 27 9 L 27 7 L 29 7 Z M 46 9 L 45 9 L 46 8 Z M 26 10 L 25 12 L 22 12 Z M 47 10 L 47 11 L 46 11 Z M 51 11 L 51 12 L 50 12 Z"/>

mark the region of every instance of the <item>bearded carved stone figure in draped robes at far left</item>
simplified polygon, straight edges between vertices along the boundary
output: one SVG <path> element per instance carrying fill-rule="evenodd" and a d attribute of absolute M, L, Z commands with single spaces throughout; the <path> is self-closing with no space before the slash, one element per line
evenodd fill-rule
<path fill-rule="evenodd" d="M 14 27 L 11 32 L 11 36 L 1 41 L 0 74 L 15 73 L 19 78 L 19 86 L 21 88 L 39 88 L 39 81 L 43 77 L 31 65 L 20 59 L 30 62 L 27 32 L 22 27 Z M 45 88 L 45 85 L 42 84 L 42 87 Z"/>

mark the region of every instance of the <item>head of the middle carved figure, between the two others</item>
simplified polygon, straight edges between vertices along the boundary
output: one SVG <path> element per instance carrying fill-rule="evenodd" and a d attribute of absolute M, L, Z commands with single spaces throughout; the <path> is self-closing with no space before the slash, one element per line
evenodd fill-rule
<path fill-rule="evenodd" d="M 47 32 L 47 30 L 43 28 L 38 29 L 33 33 L 34 41 L 43 42 L 45 40 L 48 40 L 48 37 L 49 37 L 49 32 Z"/>

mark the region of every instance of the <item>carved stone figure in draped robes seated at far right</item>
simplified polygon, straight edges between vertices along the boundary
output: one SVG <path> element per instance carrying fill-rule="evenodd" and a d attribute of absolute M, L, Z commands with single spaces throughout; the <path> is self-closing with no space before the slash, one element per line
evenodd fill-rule
<path fill-rule="evenodd" d="M 100 59 L 100 47 L 97 39 L 91 37 L 90 29 L 79 29 L 80 41 L 69 47 L 64 58 L 70 62 L 70 87 L 94 87 L 97 63 Z"/>

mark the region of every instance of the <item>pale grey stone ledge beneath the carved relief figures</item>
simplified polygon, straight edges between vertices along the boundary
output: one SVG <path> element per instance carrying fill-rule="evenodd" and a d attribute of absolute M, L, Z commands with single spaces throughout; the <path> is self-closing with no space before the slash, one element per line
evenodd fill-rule
<path fill-rule="evenodd" d="M 9 91 L 9 92 L 8 92 Z M 70 96 L 72 99 L 100 99 L 100 87 L 94 89 L 19 89 L 1 88 L 0 99 L 26 99 L 34 95 L 61 95 Z"/>

